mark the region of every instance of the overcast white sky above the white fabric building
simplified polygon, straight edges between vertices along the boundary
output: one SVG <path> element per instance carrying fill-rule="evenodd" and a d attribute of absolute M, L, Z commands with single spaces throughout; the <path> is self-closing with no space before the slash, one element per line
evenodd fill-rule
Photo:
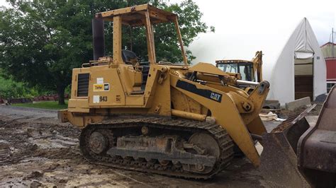
<path fill-rule="evenodd" d="M 177 0 L 170 0 L 178 2 Z M 281 1 L 211 1 L 194 0 L 203 13 L 203 21 L 216 28 L 216 33 L 235 28 L 246 33 L 259 33 L 268 23 L 276 22 L 277 29 L 294 30 L 299 20 L 308 18 L 320 45 L 329 42 L 332 28 L 336 25 L 335 0 L 281 0 Z M 225 25 L 223 25 L 225 23 Z M 265 30 L 271 32 L 268 28 Z M 243 36 L 242 36 L 243 37 Z"/>

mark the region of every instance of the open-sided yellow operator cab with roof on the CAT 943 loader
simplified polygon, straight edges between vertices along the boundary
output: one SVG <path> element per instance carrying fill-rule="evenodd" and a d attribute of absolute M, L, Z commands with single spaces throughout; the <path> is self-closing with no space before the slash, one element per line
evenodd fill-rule
<path fill-rule="evenodd" d="M 104 30 L 106 29 L 104 25 L 106 25 L 106 21 L 113 23 L 110 24 L 113 25 L 112 50 L 105 48 Z M 169 62 L 172 61 L 174 65 L 187 65 L 177 15 L 174 13 L 144 4 L 96 13 L 92 26 L 94 61 L 91 61 L 89 66 L 118 65 L 123 72 L 121 75 L 128 75 L 128 77 L 121 78 L 128 95 L 144 95 L 152 64 L 172 64 Z M 172 57 L 169 50 L 165 53 L 156 53 L 155 45 L 167 44 L 167 41 L 161 40 L 154 42 L 155 30 L 160 27 L 177 34 L 176 38 L 169 36 L 168 40 L 169 42 L 176 40 L 176 44 L 179 44 L 181 49 L 181 57 Z M 157 35 L 160 35 L 160 33 L 157 33 Z M 111 46 L 111 44 L 108 46 Z M 111 55 L 106 56 L 106 54 Z M 177 59 L 181 59 L 184 64 L 175 64 L 179 63 L 176 62 Z"/>

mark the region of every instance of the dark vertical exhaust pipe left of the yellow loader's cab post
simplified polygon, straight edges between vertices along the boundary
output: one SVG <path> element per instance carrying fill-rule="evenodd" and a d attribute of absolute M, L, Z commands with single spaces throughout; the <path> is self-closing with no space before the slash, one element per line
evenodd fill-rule
<path fill-rule="evenodd" d="M 105 39 L 103 30 L 104 30 L 103 19 L 102 18 L 92 19 L 94 60 L 98 60 L 99 57 L 103 57 L 105 55 Z"/>

